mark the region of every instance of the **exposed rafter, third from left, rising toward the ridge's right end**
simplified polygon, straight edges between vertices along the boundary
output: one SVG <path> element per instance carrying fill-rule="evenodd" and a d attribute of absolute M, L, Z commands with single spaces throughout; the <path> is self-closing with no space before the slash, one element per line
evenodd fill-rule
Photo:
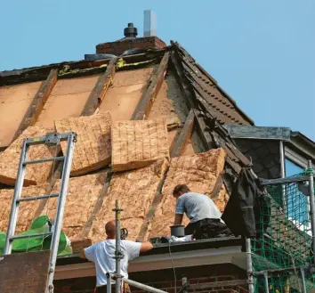
<path fill-rule="evenodd" d="M 150 78 L 150 85 L 144 94 L 142 94 L 137 107 L 135 108 L 132 116 L 132 120 L 142 120 L 145 118 L 151 106 L 158 95 L 158 91 L 166 76 L 166 69 L 170 58 L 170 52 L 166 52 L 162 58 L 162 61 L 158 65 L 157 72 Z"/>

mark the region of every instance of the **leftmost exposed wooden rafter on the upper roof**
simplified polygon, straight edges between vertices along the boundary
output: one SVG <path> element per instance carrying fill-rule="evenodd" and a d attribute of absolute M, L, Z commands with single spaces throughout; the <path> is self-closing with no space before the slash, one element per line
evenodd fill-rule
<path fill-rule="evenodd" d="M 20 122 L 20 126 L 13 136 L 12 142 L 14 142 L 20 134 L 28 128 L 28 126 L 34 126 L 40 112 L 44 108 L 44 104 L 47 101 L 49 95 L 52 93 L 52 88 L 57 82 L 58 70 L 52 69 L 46 80 L 42 82 L 39 89 L 30 103 L 24 118 Z"/>

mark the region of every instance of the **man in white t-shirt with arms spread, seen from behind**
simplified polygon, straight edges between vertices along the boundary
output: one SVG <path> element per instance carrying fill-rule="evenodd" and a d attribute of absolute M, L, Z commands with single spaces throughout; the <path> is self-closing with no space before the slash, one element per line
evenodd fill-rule
<path fill-rule="evenodd" d="M 107 292 L 106 273 L 115 273 L 116 260 L 116 224 L 115 221 L 109 221 L 105 225 L 107 234 L 106 240 L 95 243 L 89 248 L 81 250 L 80 256 L 93 262 L 96 271 L 96 293 Z M 148 242 L 134 242 L 130 240 L 121 240 L 120 248 L 124 253 L 124 258 L 120 260 L 121 274 L 128 278 L 128 262 L 138 257 L 141 252 L 149 251 L 153 248 Z M 115 290 L 113 291 L 115 292 Z"/>

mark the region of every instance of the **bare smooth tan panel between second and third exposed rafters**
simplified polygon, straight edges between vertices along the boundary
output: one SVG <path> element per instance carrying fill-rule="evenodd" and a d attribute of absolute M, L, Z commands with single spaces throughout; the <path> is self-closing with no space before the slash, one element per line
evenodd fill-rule
<path fill-rule="evenodd" d="M 147 90 L 154 68 L 125 70 L 116 73 L 99 113 L 110 111 L 114 121 L 127 120 L 133 115 L 141 94 Z"/>

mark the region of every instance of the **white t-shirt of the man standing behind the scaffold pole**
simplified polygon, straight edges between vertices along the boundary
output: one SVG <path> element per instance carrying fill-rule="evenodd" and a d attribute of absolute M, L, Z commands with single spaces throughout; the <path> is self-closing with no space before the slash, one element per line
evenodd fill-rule
<path fill-rule="evenodd" d="M 106 285 L 106 273 L 115 273 L 115 248 L 116 240 L 103 240 L 85 248 L 85 257 L 95 264 L 97 287 Z M 124 258 L 120 260 L 120 273 L 128 278 L 128 262 L 139 256 L 141 242 L 121 240 L 120 248 L 124 253 Z"/>

